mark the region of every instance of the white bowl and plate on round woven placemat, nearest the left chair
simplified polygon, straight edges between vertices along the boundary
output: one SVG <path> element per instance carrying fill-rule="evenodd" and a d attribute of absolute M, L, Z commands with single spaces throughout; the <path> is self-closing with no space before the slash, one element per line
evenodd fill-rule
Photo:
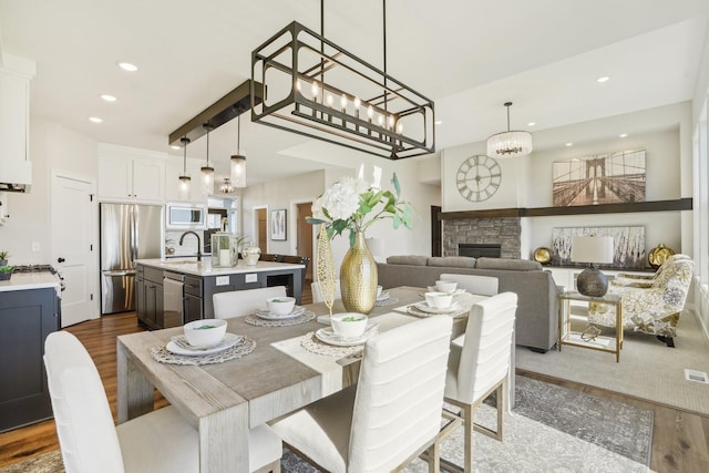
<path fill-rule="evenodd" d="M 256 341 L 226 329 L 222 319 L 192 321 L 183 327 L 183 335 L 172 337 L 165 347 L 151 349 L 151 354 L 161 363 L 198 366 L 235 360 L 254 351 Z"/>

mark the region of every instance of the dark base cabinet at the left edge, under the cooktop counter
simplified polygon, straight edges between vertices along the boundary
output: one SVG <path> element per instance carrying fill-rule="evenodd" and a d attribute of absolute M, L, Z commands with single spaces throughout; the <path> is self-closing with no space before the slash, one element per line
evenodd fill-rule
<path fill-rule="evenodd" d="M 60 326 L 54 288 L 0 291 L 0 432 L 52 418 L 42 357 Z"/>

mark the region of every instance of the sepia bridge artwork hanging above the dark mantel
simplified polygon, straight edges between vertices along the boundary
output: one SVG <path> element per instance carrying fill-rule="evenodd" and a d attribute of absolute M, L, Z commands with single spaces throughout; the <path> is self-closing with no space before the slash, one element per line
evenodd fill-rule
<path fill-rule="evenodd" d="M 553 174 L 555 207 L 645 202 L 645 150 L 555 161 Z"/>

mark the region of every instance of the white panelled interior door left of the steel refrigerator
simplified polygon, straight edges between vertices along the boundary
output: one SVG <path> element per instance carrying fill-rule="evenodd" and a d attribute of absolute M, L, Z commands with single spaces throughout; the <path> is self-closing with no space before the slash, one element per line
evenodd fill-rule
<path fill-rule="evenodd" d="M 96 204 L 94 183 L 62 174 L 52 175 L 52 266 L 64 277 L 62 327 L 99 317 L 94 294 Z"/>

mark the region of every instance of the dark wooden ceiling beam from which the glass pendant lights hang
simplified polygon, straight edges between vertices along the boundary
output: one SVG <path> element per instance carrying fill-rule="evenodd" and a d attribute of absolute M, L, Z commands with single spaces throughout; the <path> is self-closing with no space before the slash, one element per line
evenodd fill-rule
<path fill-rule="evenodd" d="M 264 86 L 256 83 L 254 88 L 256 93 L 256 103 L 260 103 L 263 95 L 260 91 Z M 175 130 L 169 134 L 168 144 L 182 146 L 179 141 L 183 136 L 189 138 L 191 142 L 204 136 L 207 132 L 204 125 L 208 123 L 212 128 L 218 128 L 225 123 L 236 119 L 244 112 L 251 109 L 251 80 L 247 79 L 232 92 L 214 102 L 212 105 L 199 112 L 194 119 Z"/>

